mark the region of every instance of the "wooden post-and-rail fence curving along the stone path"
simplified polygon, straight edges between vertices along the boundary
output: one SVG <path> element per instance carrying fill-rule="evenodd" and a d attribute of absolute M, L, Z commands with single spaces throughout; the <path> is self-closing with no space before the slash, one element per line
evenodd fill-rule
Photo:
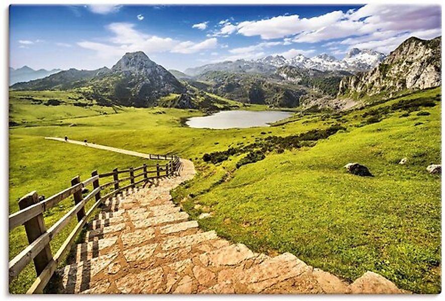
<path fill-rule="evenodd" d="M 19 201 L 20 211 L 9 216 L 9 231 L 24 225 L 29 245 L 9 262 L 9 282 L 11 283 L 23 268 L 33 260 L 37 279 L 27 293 L 41 293 L 56 270 L 57 265 L 63 260 L 64 255 L 69 251 L 77 235 L 101 203 L 128 188 L 137 187 L 139 184 L 148 183 L 156 178 L 173 176 L 181 169 L 180 158 L 175 155 L 150 155 L 150 159 L 168 160 L 168 162 L 165 165 L 144 164 L 140 167 L 125 170 L 114 169 L 112 172 L 105 174 L 98 174 L 98 171 L 94 171 L 91 174 L 91 178 L 83 182 L 80 182 L 79 176 L 74 177 L 71 180 L 71 187 L 43 201 L 39 201 L 36 191 L 21 198 Z M 122 178 L 123 174 L 128 174 L 128 176 Z M 113 177 L 112 181 L 101 183 L 101 179 L 110 177 Z M 130 184 L 121 187 L 120 183 L 128 180 L 130 180 Z M 90 185 L 93 186 L 92 191 L 83 196 L 82 190 Z M 113 190 L 111 192 L 101 196 L 101 191 L 112 186 Z M 43 213 L 71 195 L 74 198 L 74 207 L 49 229 L 46 229 Z M 95 203 L 85 213 L 85 205 L 93 197 Z M 50 241 L 68 225 L 74 215 L 77 216 L 78 223 L 55 255 L 52 255 Z"/>

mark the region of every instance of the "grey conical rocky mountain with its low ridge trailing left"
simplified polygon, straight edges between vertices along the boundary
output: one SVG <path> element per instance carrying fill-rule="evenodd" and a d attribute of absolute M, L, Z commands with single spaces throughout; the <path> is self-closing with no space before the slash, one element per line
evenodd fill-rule
<path fill-rule="evenodd" d="M 111 69 L 69 69 L 28 83 L 16 83 L 14 90 L 68 90 L 82 88 L 88 99 L 102 104 L 151 106 L 162 96 L 185 93 L 181 84 L 164 67 L 141 51 L 126 53 Z"/>

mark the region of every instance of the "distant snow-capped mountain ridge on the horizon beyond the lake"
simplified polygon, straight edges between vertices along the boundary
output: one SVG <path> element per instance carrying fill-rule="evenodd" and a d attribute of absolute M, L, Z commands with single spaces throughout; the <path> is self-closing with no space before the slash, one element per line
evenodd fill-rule
<path fill-rule="evenodd" d="M 351 49 L 343 60 L 337 60 L 335 57 L 326 53 L 307 58 L 302 54 L 286 59 L 281 55 L 270 55 L 257 60 L 236 60 L 225 61 L 215 64 L 208 64 L 200 67 L 189 68 L 185 73 L 192 76 L 204 74 L 208 71 L 225 71 L 236 73 L 263 73 L 271 74 L 277 68 L 283 66 L 293 66 L 305 69 L 317 69 L 320 71 L 348 71 L 359 72 L 367 71 L 378 65 L 385 55 L 380 52 L 357 48 Z"/>

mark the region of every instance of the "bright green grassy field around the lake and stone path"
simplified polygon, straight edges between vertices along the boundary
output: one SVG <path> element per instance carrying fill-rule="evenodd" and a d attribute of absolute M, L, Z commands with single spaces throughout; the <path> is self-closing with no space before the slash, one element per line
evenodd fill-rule
<path fill-rule="evenodd" d="M 44 136 L 175 153 L 191 159 L 198 174 L 173 192 L 174 201 L 182 201 L 194 218 L 210 212 L 210 218 L 199 220 L 203 228 L 256 251 L 291 252 L 348 281 L 371 270 L 404 289 L 440 292 L 441 179 L 425 170 L 440 163 L 440 88 L 345 113 L 296 112 L 275 126 L 224 130 L 182 126 L 182 118 L 202 114 L 197 110 L 77 107 L 66 95 L 51 93 L 61 92 L 11 92 L 10 123 L 18 125 L 10 127 L 10 213 L 32 190 L 49 196 L 77 174 L 85 179 L 94 169 L 142 163 Z M 66 97 L 67 102 L 46 106 L 23 97 Z M 284 152 L 272 147 L 263 160 L 239 169 L 236 163 L 246 152 L 217 164 L 202 160 L 229 147 L 264 144 L 266 137 L 317 133 L 336 124 L 344 129 Z M 408 164 L 399 165 L 404 157 Z M 374 177 L 347 174 L 343 166 L 349 162 L 364 164 Z M 48 213 L 47 223 L 60 218 L 70 202 Z M 13 231 L 10 258 L 24 245 L 23 230 Z M 22 274 L 11 292 L 26 291 L 32 266 Z"/>

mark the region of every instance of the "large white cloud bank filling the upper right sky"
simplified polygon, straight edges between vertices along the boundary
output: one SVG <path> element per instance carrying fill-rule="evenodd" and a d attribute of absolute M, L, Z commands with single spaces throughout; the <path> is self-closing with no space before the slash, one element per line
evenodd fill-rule
<path fill-rule="evenodd" d="M 419 38 L 428 39 L 433 34 L 440 35 L 440 20 L 441 8 L 438 5 L 369 4 L 346 13 L 333 11 L 312 18 L 285 14 L 236 25 L 222 20 L 220 30 L 213 35 L 237 33 L 248 37 L 259 36 L 263 40 L 284 38 L 284 45 L 336 40 L 329 43 L 358 48 L 369 46 L 388 52 L 399 41 L 403 42 L 403 38 L 418 34 Z"/>

